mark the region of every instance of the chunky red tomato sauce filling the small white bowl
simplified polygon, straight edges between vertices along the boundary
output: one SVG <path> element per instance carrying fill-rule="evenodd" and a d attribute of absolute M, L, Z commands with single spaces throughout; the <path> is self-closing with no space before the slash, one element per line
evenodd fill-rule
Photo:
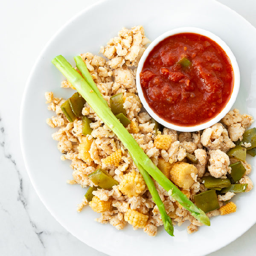
<path fill-rule="evenodd" d="M 203 35 L 169 36 L 149 53 L 140 73 L 148 105 L 175 125 L 194 126 L 221 112 L 233 91 L 226 52 Z"/>

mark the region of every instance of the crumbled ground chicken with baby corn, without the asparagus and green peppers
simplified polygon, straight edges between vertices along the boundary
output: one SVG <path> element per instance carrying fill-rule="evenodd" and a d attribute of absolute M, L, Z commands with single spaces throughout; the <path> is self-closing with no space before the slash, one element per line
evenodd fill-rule
<path fill-rule="evenodd" d="M 230 158 L 227 153 L 238 145 L 237 141 L 242 141 L 253 118 L 247 114 L 241 115 L 234 109 L 221 122 L 204 131 L 190 133 L 168 128 L 156 130 L 151 116 L 141 111 L 142 105 L 135 83 L 136 67 L 148 43 L 143 26 L 123 28 L 117 37 L 100 49 L 108 61 L 90 52 L 81 54 L 81 58 L 108 104 L 111 96 L 123 93 L 123 108 L 130 120 L 127 130 L 164 175 L 195 202 L 198 194 L 210 190 L 206 188 L 207 177 L 224 180 L 232 172 L 230 164 L 239 162 L 232 154 Z M 61 87 L 73 88 L 68 81 L 63 81 Z M 63 154 L 61 160 L 71 160 L 73 179 L 67 182 L 93 188 L 91 200 L 84 197 L 77 210 L 80 212 L 88 204 L 93 211 L 101 213 L 101 217 L 96 219 L 98 222 L 109 222 L 118 230 L 129 223 L 134 229 L 143 228 L 149 236 L 155 236 L 157 227 L 163 225 L 159 209 L 152 201 L 142 175 L 122 142 L 87 103 L 82 108 L 82 115 L 92 122 L 91 133 L 85 136 L 81 118 L 69 122 L 61 110 L 64 99 L 54 97 L 52 92 L 45 93 L 45 97 L 48 109 L 56 113 L 56 116 L 47 119 L 47 124 L 52 128 L 59 128 L 52 134 L 52 138 L 58 141 L 58 149 Z M 243 143 L 242 146 L 250 148 L 251 143 Z M 245 160 L 241 161 L 241 165 L 245 172 L 238 182 L 247 184 L 244 191 L 248 192 L 253 188 L 253 183 L 247 176 L 251 172 L 251 166 Z M 118 185 L 113 185 L 108 190 L 97 188 L 88 175 L 99 168 L 111 175 Z M 197 231 L 201 222 L 169 196 L 158 183 L 155 182 L 155 186 L 173 223 L 180 226 L 189 220 L 191 224 L 187 227 L 188 233 Z M 219 207 L 207 212 L 208 217 L 236 211 L 233 202 L 225 204 L 235 195 L 234 192 L 217 194 Z"/>

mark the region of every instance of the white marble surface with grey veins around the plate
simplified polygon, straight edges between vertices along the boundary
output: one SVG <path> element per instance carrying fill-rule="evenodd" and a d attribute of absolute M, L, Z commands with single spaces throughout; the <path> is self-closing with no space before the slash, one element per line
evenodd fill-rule
<path fill-rule="evenodd" d="M 70 235 L 50 215 L 29 181 L 19 141 L 20 103 L 32 65 L 49 38 L 67 20 L 96 2 L 98 0 L 1 1 L 0 255 L 106 255 Z M 255 0 L 219 2 L 256 26 Z M 233 243 L 208 256 L 240 256 L 244 253 L 254 256 L 255 234 L 256 225 Z"/>

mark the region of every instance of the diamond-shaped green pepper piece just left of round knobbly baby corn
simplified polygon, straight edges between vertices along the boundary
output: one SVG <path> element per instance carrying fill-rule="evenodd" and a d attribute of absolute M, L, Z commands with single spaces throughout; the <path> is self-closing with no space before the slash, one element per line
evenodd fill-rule
<path fill-rule="evenodd" d="M 108 172 L 102 169 L 97 169 L 95 172 L 89 174 L 88 177 L 94 184 L 100 186 L 102 189 L 112 189 L 114 185 L 119 184 Z"/>

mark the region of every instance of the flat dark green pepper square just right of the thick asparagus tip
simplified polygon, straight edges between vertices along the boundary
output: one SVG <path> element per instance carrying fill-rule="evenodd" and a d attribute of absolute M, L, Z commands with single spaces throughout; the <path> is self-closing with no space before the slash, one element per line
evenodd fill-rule
<path fill-rule="evenodd" d="M 204 212 L 210 212 L 220 207 L 216 192 L 213 189 L 194 195 L 194 199 L 196 206 Z"/>

